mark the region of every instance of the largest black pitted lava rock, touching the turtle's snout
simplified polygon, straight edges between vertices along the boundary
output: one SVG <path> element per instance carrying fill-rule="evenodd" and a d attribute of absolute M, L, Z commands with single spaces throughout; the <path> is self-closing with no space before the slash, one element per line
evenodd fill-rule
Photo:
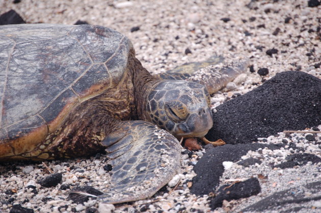
<path fill-rule="evenodd" d="M 286 71 L 216 108 L 208 140 L 251 143 L 284 130 L 321 124 L 321 79 Z"/>

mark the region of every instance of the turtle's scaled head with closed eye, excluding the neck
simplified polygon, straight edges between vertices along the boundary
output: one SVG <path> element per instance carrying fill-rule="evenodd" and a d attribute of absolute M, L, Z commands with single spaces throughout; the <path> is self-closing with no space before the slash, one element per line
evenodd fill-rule
<path fill-rule="evenodd" d="M 205 86 L 182 80 L 157 83 L 147 98 L 146 118 L 176 138 L 202 137 L 212 127 Z"/>

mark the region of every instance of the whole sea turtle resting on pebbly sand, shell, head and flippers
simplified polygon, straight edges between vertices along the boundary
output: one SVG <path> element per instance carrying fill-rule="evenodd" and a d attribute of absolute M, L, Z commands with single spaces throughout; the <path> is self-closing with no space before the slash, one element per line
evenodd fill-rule
<path fill-rule="evenodd" d="M 128 38 L 113 29 L 21 24 L 0 27 L 0 58 L 0 160 L 105 149 L 113 188 L 99 196 L 103 202 L 152 196 L 180 169 L 176 138 L 202 137 L 212 126 L 205 86 L 175 79 L 193 78 L 220 57 L 152 76 Z M 219 75 L 213 81 L 194 80 L 226 82 L 238 74 L 223 70 L 208 70 Z M 206 85 L 213 90 L 213 84 Z"/>

